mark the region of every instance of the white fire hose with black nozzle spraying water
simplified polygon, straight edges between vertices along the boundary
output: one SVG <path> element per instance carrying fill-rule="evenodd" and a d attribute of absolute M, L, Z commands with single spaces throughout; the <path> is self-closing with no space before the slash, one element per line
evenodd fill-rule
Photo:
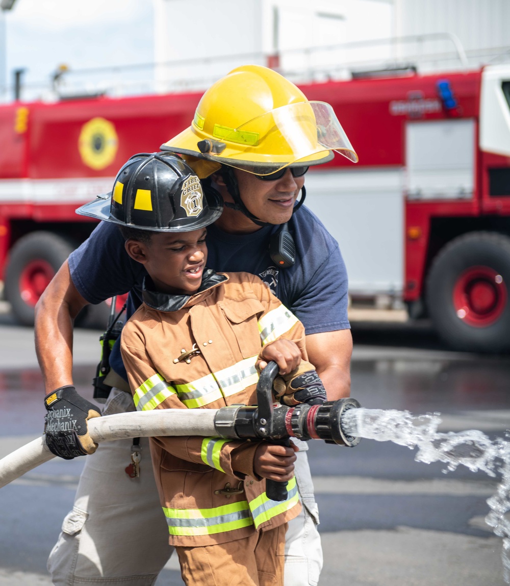
<path fill-rule="evenodd" d="M 104 415 L 88 421 L 94 442 L 132 437 L 202 435 L 230 440 L 267 440 L 283 443 L 290 438 L 324 440 L 328 444 L 353 447 L 359 437 L 342 429 L 342 416 L 360 407 L 352 398 L 327 401 L 319 405 L 298 404 L 287 407 L 273 404 L 273 380 L 278 366 L 270 362 L 261 372 L 257 384 L 257 405 L 241 404 L 219 409 L 157 409 Z M 42 436 L 0 459 L 0 488 L 55 456 Z M 284 500 L 286 482 L 266 481 L 270 499 Z"/>

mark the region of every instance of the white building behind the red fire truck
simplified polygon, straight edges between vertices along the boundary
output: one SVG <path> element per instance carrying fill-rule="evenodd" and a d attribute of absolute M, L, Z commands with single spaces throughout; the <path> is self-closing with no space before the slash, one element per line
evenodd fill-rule
<path fill-rule="evenodd" d="M 243 63 L 294 80 L 510 56 L 508 0 L 153 0 L 157 91 L 207 87 Z"/>

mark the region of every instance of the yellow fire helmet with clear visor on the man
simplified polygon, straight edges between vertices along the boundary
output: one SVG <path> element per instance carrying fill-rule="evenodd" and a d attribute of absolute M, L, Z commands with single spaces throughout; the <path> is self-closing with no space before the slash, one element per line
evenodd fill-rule
<path fill-rule="evenodd" d="M 191 127 L 161 146 L 256 175 L 287 166 L 320 165 L 336 151 L 352 162 L 351 146 L 331 105 L 309 101 L 291 81 L 260 65 L 230 71 L 203 94 Z M 188 155 L 188 156 L 186 156 Z"/>

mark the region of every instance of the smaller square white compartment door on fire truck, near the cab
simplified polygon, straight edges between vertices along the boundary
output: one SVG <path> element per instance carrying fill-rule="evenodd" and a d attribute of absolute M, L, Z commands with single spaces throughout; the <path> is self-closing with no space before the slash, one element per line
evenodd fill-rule
<path fill-rule="evenodd" d="M 408 199 L 468 199 L 473 195 L 475 121 L 406 124 Z"/>

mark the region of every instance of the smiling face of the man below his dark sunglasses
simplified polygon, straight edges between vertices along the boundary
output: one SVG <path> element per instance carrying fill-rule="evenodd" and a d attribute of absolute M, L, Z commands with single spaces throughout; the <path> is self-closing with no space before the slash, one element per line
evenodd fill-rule
<path fill-rule="evenodd" d="M 244 205 L 254 216 L 268 224 L 284 224 L 292 216 L 295 200 L 305 178 L 294 177 L 287 169 L 281 179 L 264 181 L 253 173 L 234 169 Z"/>

